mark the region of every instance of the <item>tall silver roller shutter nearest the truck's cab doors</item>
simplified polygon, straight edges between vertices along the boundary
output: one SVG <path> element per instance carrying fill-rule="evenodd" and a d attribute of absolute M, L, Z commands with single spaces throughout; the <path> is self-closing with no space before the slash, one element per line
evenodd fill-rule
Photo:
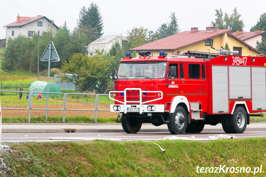
<path fill-rule="evenodd" d="M 229 112 L 227 66 L 212 66 L 212 112 Z"/>

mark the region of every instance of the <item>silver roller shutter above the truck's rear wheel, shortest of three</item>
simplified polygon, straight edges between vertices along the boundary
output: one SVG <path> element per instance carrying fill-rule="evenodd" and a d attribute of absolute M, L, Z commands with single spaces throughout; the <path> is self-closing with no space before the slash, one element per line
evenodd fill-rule
<path fill-rule="evenodd" d="M 229 66 L 229 99 L 251 99 L 250 66 Z"/>

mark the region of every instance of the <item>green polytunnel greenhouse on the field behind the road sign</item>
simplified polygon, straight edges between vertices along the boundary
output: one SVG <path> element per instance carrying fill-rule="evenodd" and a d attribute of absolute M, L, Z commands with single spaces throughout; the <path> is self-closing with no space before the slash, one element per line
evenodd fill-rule
<path fill-rule="evenodd" d="M 47 82 L 35 81 L 31 84 L 29 91 L 33 92 L 47 92 Z M 56 83 L 49 82 L 49 92 L 61 93 L 61 89 Z M 54 95 L 54 97 L 61 97 L 61 94 L 49 94 L 49 98 Z M 33 93 L 32 96 L 37 97 L 37 93 Z M 46 97 L 47 94 L 42 94 L 42 97 Z"/>

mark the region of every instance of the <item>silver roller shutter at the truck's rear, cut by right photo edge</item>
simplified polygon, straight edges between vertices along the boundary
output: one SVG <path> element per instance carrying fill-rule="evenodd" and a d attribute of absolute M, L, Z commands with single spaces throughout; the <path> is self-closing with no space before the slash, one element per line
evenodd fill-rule
<path fill-rule="evenodd" d="M 252 67 L 252 110 L 266 110 L 265 67 Z"/>

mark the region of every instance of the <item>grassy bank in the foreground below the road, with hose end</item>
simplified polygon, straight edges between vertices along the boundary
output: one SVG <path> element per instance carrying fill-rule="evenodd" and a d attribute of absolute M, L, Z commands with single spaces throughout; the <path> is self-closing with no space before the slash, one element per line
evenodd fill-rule
<path fill-rule="evenodd" d="M 255 176 L 255 167 L 265 176 L 266 139 L 221 139 L 208 142 L 162 140 L 150 142 L 8 143 L 0 151 L 0 176 L 88 177 L 88 176 Z M 215 167 L 224 172 L 214 173 Z M 197 173 L 196 167 L 207 169 Z M 211 168 L 213 167 L 213 168 Z M 244 167 L 243 173 L 230 173 Z M 233 168 L 232 168 L 233 167 Z M 2 169 L 1 169 L 2 168 Z M 246 171 L 250 172 L 247 173 Z M 213 170 L 213 172 L 209 172 Z M 218 170 L 219 171 L 219 170 Z M 198 172 L 200 170 L 198 169 Z M 4 174 L 4 175 L 3 175 Z"/>

